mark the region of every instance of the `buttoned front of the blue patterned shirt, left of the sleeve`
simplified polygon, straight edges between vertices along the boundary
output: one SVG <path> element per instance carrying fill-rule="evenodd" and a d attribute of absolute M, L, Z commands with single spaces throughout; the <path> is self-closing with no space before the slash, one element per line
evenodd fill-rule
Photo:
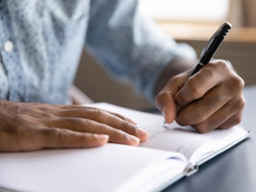
<path fill-rule="evenodd" d="M 86 34 L 81 17 L 88 9 L 89 1 L 0 1 L 1 98 L 69 101 Z M 13 50 L 5 51 L 7 41 Z"/>

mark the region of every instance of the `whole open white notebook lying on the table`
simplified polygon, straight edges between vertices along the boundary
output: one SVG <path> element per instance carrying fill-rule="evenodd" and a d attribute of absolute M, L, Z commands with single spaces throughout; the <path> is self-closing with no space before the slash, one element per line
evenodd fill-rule
<path fill-rule="evenodd" d="M 150 139 L 140 147 L 109 143 L 74 150 L 0 153 L 0 189 L 9 191 L 159 191 L 248 137 L 242 127 L 199 134 L 161 115 L 108 103 L 93 106 L 138 122 Z"/>

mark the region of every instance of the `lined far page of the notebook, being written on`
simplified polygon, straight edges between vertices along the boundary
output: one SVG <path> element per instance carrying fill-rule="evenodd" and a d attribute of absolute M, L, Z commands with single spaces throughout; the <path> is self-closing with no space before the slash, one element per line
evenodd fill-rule
<path fill-rule="evenodd" d="M 141 147 L 179 152 L 188 160 L 203 145 L 206 146 L 208 144 L 208 148 L 205 148 L 201 153 L 207 153 L 222 147 L 220 144 L 216 144 L 217 141 L 219 142 L 225 139 L 226 143 L 219 143 L 227 144 L 247 134 L 242 127 L 233 127 L 232 129 L 215 130 L 206 134 L 199 134 L 193 127 L 180 126 L 176 122 L 167 124 L 164 127 L 164 119 L 161 115 L 130 110 L 109 103 L 95 103 L 93 106 L 117 112 L 135 120 L 138 123 L 138 127 L 146 130 L 151 135 L 148 141 L 140 144 Z M 230 137 L 227 137 L 229 135 Z M 215 143 L 212 144 L 212 142 Z"/>

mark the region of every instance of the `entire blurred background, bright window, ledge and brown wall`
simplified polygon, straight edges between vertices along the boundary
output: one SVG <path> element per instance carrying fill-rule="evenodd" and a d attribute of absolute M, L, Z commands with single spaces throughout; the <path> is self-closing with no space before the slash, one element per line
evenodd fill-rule
<path fill-rule="evenodd" d="M 233 25 L 215 58 L 228 59 L 244 79 L 256 84 L 256 1 L 255 0 L 139 0 L 141 12 L 153 17 L 168 36 L 186 42 L 200 55 L 209 37 L 223 23 Z M 112 79 L 84 51 L 75 85 L 94 102 L 109 102 L 143 110 L 152 103 L 135 93 L 129 84 Z"/>

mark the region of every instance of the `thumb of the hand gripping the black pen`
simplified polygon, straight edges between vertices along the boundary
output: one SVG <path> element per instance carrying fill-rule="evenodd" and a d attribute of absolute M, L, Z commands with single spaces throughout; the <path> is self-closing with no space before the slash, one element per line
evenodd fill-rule
<path fill-rule="evenodd" d="M 176 106 L 174 97 L 184 86 L 189 74 L 190 70 L 174 76 L 155 98 L 156 107 L 162 112 L 166 123 L 172 123 L 176 118 L 179 106 Z"/>

